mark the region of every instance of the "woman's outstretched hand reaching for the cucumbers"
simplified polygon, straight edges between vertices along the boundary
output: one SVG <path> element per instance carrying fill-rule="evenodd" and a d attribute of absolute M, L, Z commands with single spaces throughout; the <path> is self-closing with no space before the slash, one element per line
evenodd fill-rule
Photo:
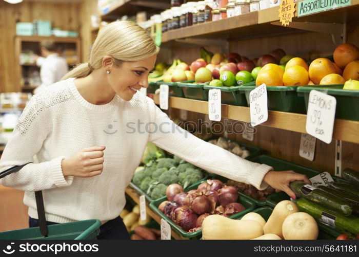
<path fill-rule="evenodd" d="M 311 184 L 306 175 L 295 173 L 294 171 L 269 171 L 263 180 L 272 188 L 286 192 L 295 199 L 295 193 L 289 188 L 289 183 L 295 180 L 303 180 Z"/>

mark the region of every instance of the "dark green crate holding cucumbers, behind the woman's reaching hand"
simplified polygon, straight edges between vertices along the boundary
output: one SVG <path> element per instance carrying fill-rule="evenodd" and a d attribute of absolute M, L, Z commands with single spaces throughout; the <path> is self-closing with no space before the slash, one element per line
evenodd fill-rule
<path fill-rule="evenodd" d="M 313 169 L 310 169 L 310 168 L 307 168 L 304 166 L 300 166 L 293 162 L 277 159 L 277 158 L 271 157 L 269 155 L 256 156 L 256 157 L 251 158 L 250 161 L 267 164 L 268 166 L 273 167 L 273 169 L 275 171 L 293 170 L 297 173 L 307 175 L 308 178 L 314 177 L 321 173 L 320 171 L 316 171 L 316 170 L 313 170 Z M 338 178 L 338 177 L 334 177 L 334 176 L 333 176 L 333 179 L 338 182 L 343 181 L 342 178 Z M 273 193 L 267 197 L 266 203 L 267 203 L 267 205 L 269 205 L 271 207 L 275 207 L 277 205 L 277 203 L 279 203 L 280 201 L 289 200 L 289 199 L 290 199 L 290 197 L 284 192 Z"/>

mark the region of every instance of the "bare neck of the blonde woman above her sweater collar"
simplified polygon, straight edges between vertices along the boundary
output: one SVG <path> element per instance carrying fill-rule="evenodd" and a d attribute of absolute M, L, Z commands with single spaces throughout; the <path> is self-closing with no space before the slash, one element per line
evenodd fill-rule
<path fill-rule="evenodd" d="M 75 79 L 74 84 L 80 95 L 92 104 L 107 104 L 115 96 L 115 92 L 101 76 L 100 70 L 94 70 L 85 78 Z"/>

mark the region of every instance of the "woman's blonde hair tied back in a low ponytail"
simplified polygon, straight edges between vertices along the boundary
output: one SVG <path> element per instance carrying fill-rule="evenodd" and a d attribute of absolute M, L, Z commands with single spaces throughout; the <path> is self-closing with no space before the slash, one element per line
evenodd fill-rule
<path fill-rule="evenodd" d="M 92 46 L 90 60 L 78 64 L 62 79 L 84 78 L 92 70 L 102 67 L 102 59 L 111 56 L 114 65 L 122 62 L 135 62 L 157 54 L 159 48 L 150 34 L 134 22 L 117 21 L 102 28 Z"/>

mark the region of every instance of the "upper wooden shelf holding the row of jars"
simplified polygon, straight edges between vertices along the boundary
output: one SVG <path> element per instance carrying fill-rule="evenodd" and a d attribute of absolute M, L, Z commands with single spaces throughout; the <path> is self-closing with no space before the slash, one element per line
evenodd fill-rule
<path fill-rule="evenodd" d="M 220 21 L 206 22 L 163 33 L 164 43 L 185 38 L 241 40 L 263 38 L 279 34 L 298 33 L 304 30 L 272 25 L 278 22 L 278 6 L 229 17 Z M 357 23 L 359 22 L 359 0 L 352 0 L 351 6 L 297 17 L 296 5 L 293 22 Z"/>

